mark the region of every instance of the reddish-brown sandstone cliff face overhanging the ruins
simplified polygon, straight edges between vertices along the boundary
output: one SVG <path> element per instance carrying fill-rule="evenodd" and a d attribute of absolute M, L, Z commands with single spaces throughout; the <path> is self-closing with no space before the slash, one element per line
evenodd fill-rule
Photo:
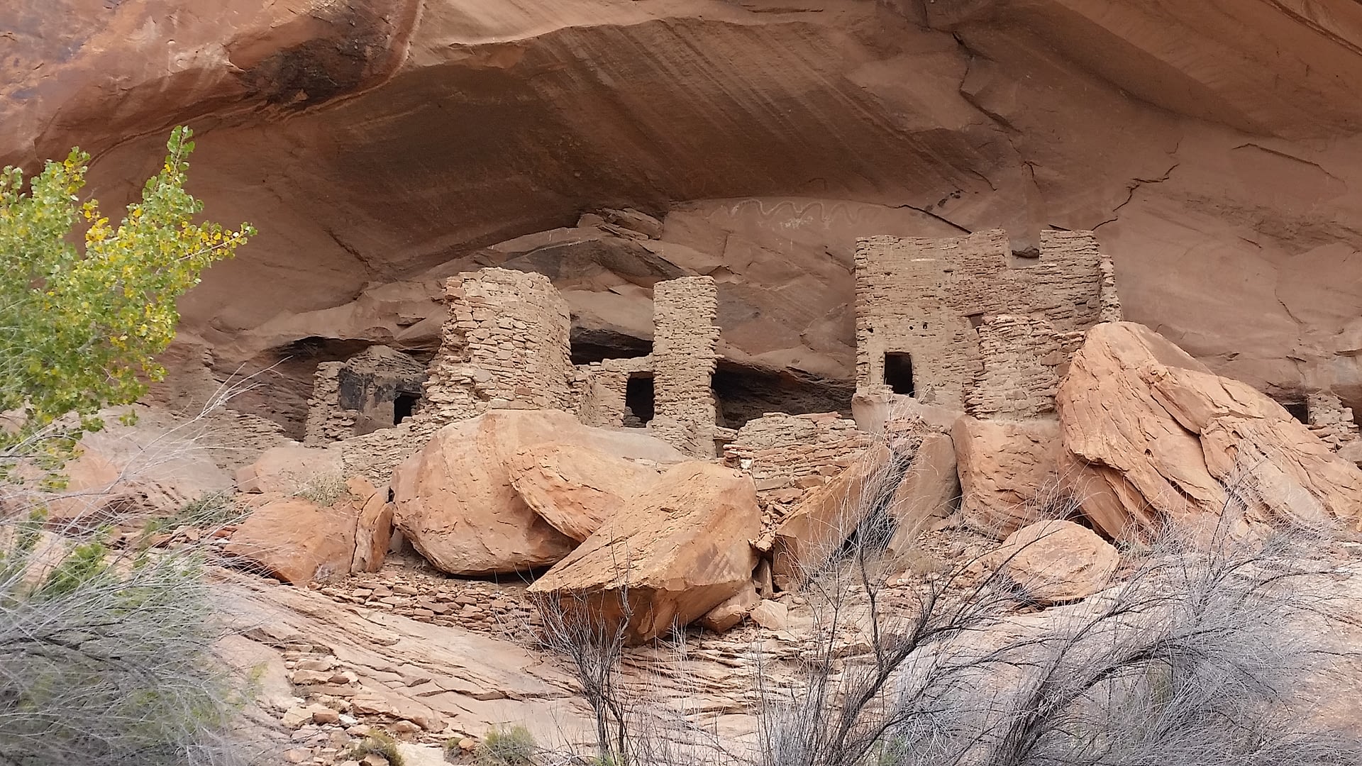
<path fill-rule="evenodd" d="M 858 236 L 1084 228 L 1128 319 L 1362 406 L 1359 44 L 1347 0 L 16 0 L 0 162 L 79 143 L 112 204 L 199 131 L 193 191 L 262 234 L 183 301 L 188 367 L 429 346 L 481 248 L 633 206 L 734 363 L 850 378 Z M 580 247 L 582 330 L 646 338 L 654 277 Z"/>

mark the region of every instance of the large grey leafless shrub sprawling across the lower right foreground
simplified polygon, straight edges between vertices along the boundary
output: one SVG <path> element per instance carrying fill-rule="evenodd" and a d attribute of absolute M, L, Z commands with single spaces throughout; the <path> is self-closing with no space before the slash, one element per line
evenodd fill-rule
<path fill-rule="evenodd" d="M 851 547 L 810 582 L 809 660 L 764 695 L 760 763 L 1362 762 L 1355 739 L 1308 722 L 1299 694 L 1318 657 L 1294 634 L 1327 616 L 1327 537 L 1231 540 L 1241 511 L 1163 530 L 1110 590 L 1032 617 L 1011 617 L 1022 600 L 1005 564 L 970 562 L 888 613 L 872 556 Z M 853 622 L 865 653 L 843 661 Z"/>

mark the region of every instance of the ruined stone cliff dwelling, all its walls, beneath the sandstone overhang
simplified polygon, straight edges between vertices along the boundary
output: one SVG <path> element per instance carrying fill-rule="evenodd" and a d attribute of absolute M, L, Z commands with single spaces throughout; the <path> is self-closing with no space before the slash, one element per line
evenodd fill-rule
<path fill-rule="evenodd" d="M 858 397 L 904 397 L 982 420 L 1053 418 L 1086 330 L 1121 315 L 1111 262 L 1091 232 L 1045 230 L 1024 252 L 1000 229 L 869 237 L 854 264 Z M 317 365 L 308 444 L 342 442 L 349 468 L 381 480 L 445 423 L 489 409 L 560 409 L 586 425 L 647 428 L 696 458 L 759 461 L 753 476 L 771 518 L 827 476 L 823 457 L 855 453 L 849 383 L 722 358 L 711 277 L 656 282 L 652 337 L 627 353 L 591 341 L 575 349 L 569 305 L 538 273 L 466 271 L 447 279 L 444 300 L 428 368 L 381 345 Z M 591 361 L 573 364 L 575 354 Z M 1297 410 L 1333 450 L 1358 442 L 1337 397 L 1310 394 Z"/>

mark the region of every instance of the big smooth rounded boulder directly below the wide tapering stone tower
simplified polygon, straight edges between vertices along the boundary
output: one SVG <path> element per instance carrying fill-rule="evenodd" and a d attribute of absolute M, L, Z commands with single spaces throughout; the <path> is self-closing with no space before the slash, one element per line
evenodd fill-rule
<path fill-rule="evenodd" d="M 561 560 L 577 541 L 535 512 L 512 484 L 509 469 L 516 453 L 549 443 L 591 448 L 602 459 L 682 457 L 642 429 L 591 428 L 560 410 L 489 410 L 443 427 L 392 472 L 394 525 L 426 560 L 449 574 L 507 574 Z M 586 481 L 590 470 L 583 469 L 580 478 Z M 553 506 L 538 492 L 542 485 L 534 489 L 528 495 L 558 522 L 571 522 L 565 523 L 569 529 L 590 523 L 572 519 L 565 506 Z"/>

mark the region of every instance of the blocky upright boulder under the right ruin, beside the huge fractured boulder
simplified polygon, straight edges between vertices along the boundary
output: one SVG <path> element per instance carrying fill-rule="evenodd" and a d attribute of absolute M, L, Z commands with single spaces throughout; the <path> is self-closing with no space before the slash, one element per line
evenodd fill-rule
<path fill-rule="evenodd" d="M 1058 491 L 1060 424 L 962 417 L 951 436 L 967 525 L 1001 538 L 1041 518 Z"/>

